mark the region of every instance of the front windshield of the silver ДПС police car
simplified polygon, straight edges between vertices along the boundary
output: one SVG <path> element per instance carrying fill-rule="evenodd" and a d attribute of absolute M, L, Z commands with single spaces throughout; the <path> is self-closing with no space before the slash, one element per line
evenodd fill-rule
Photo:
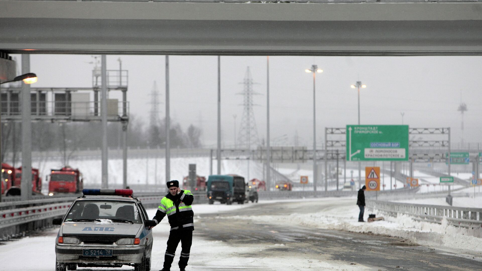
<path fill-rule="evenodd" d="M 140 212 L 134 203 L 124 201 L 77 201 L 65 221 L 95 221 L 109 219 L 112 222 L 142 223 Z M 102 221 L 102 220 L 100 220 Z"/>

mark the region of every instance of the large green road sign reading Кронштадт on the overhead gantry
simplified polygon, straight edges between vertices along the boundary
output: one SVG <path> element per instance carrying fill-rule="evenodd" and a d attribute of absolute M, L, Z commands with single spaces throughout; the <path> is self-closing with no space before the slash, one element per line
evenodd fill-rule
<path fill-rule="evenodd" d="M 347 161 L 408 161 L 408 125 L 347 125 Z"/>

